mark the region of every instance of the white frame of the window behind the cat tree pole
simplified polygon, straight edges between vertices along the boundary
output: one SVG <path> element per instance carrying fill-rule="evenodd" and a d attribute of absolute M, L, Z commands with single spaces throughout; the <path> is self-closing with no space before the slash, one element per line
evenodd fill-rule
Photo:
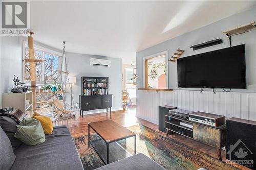
<path fill-rule="evenodd" d="M 25 48 L 28 47 L 28 42 L 27 41 L 23 41 L 23 57 L 22 59 L 25 59 Z M 42 47 L 40 45 L 34 44 L 34 50 L 37 51 L 41 51 L 42 52 L 42 59 L 45 59 L 45 53 L 49 54 L 49 55 L 54 55 L 56 57 L 58 57 L 58 70 L 60 67 L 60 62 L 61 62 L 61 58 L 62 58 L 62 54 L 53 50 L 50 50 L 49 48 L 45 48 Z M 59 73 L 58 73 L 59 76 Z M 58 77 L 57 76 L 57 77 Z M 45 62 L 42 62 L 42 80 L 41 81 L 36 81 L 36 84 L 45 84 Z M 25 84 L 29 84 L 30 81 L 25 80 L 25 61 L 22 61 L 22 82 Z M 54 82 L 54 80 L 47 80 L 46 83 L 47 84 L 52 84 Z"/>

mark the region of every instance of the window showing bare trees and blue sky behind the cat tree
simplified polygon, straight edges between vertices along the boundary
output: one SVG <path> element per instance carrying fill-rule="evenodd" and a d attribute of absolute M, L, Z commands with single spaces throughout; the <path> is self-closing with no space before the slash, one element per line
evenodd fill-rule
<path fill-rule="evenodd" d="M 36 59 L 45 59 L 44 62 L 36 62 L 36 83 L 44 84 L 53 83 L 57 81 L 60 53 L 48 50 L 46 48 L 34 45 L 34 55 Z M 24 59 L 29 58 L 29 50 L 27 42 L 24 42 Z M 23 64 L 23 81 L 29 83 L 30 81 L 30 63 Z"/>

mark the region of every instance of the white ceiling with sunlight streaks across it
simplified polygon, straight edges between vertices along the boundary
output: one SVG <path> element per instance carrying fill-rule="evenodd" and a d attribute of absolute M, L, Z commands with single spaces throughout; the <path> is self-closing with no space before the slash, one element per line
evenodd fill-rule
<path fill-rule="evenodd" d="M 38 42 L 82 54 L 136 59 L 136 52 L 239 13 L 256 1 L 31 1 Z"/>

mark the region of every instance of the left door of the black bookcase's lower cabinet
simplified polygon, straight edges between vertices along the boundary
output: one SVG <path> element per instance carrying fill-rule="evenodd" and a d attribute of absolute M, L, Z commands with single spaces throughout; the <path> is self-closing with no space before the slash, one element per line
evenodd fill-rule
<path fill-rule="evenodd" d="M 92 95 L 92 96 L 82 96 L 81 100 L 82 110 L 93 110 L 100 109 L 101 105 L 101 96 L 100 95 Z"/>

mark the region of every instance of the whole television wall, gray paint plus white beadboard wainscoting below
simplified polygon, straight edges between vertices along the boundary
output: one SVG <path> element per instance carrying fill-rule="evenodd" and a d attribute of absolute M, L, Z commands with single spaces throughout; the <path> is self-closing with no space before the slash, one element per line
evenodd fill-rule
<path fill-rule="evenodd" d="M 256 7 L 137 52 L 137 87 L 143 87 L 143 57 L 166 50 L 170 57 L 177 48 L 185 50 L 182 57 L 186 57 L 228 47 L 229 40 L 221 34 L 221 31 L 253 20 L 256 20 Z M 223 39 L 223 43 L 196 51 L 190 48 L 192 45 L 217 38 Z M 255 121 L 256 30 L 233 36 L 232 45 L 239 44 L 245 44 L 247 89 L 232 89 L 231 92 L 217 89 L 217 93 L 214 94 L 212 89 L 204 89 L 204 92 L 200 93 L 200 89 L 178 88 L 177 62 L 168 62 L 169 88 L 174 90 L 169 92 L 137 90 L 137 117 L 158 124 L 158 107 L 170 105 L 180 109 L 225 115 L 226 119 L 238 117 Z"/>

